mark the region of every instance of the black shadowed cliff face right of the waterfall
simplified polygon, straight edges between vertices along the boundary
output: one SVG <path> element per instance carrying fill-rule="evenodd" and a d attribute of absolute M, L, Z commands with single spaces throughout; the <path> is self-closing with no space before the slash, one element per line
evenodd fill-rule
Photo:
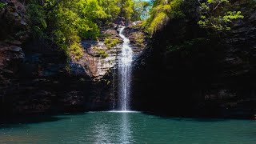
<path fill-rule="evenodd" d="M 198 27 L 193 10 L 186 19 L 168 22 L 139 58 L 134 107 L 177 116 L 252 118 L 255 5 L 241 5 L 245 18 L 229 33 L 211 36 Z"/>

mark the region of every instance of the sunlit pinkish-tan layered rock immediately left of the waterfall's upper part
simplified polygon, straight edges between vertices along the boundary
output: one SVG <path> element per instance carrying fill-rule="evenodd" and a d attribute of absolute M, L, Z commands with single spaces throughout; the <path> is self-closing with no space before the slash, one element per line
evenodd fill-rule
<path fill-rule="evenodd" d="M 82 66 L 82 69 L 86 74 L 90 75 L 94 80 L 100 80 L 106 74 L 115 69 L 118 62 L 118 54 L 121 52 L 122 48 L 122 38 L 119 37 L 117 30 L 109 28 L 102 30 L 102 37 L 98 41 L 82 41 L 82 46 L 84 47 L 84 54 L 78 62 L 72 62 L 70 67 L 71 70 L 76 70 L 75 66 Z M 118 39 L 118 43 L 107 48 L 104 44 L 106 38 Z"/>

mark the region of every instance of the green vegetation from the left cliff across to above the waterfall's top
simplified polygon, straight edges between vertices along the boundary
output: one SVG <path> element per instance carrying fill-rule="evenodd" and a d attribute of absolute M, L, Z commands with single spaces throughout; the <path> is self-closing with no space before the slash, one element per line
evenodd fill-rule
<path fill-rule="evenodd" d="M 27 12 L 34 38 L 57 45 L 66 55 L 81 58 L 82 39 L 96 40 L 99 26 L 108 26 L 116 18 L 130 20 L 134 14 L 133 0 L 29 0 Z M 136 20 L 136 18 L 134 18 Z M 116 45 L 106 42 L 107 47 Z"/>

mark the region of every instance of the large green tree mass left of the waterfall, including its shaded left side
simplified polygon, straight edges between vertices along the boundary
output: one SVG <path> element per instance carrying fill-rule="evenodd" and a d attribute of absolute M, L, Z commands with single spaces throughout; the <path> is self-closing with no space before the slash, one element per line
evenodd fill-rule
<path fill-rule="evenodd" d="M 30 0 L 27 6 L 35 38 L 46 38 L 67 55 L 82 57 L 81 39 L 98 37 L 98 20 L 107 18 L 98 0 Z"/>

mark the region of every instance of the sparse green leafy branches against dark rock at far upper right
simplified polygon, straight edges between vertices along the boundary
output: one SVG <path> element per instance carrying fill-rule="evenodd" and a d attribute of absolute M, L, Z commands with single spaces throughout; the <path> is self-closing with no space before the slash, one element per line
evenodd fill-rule
<path fill-rule="evenodd" d="M 243 18 L 243 16 L 241 11 L 228 10 L 228 4 L 228 0 L 200 2 L 201 17 L 198 25 L 213 30 L 230 30 L 230 22 Z"/>

